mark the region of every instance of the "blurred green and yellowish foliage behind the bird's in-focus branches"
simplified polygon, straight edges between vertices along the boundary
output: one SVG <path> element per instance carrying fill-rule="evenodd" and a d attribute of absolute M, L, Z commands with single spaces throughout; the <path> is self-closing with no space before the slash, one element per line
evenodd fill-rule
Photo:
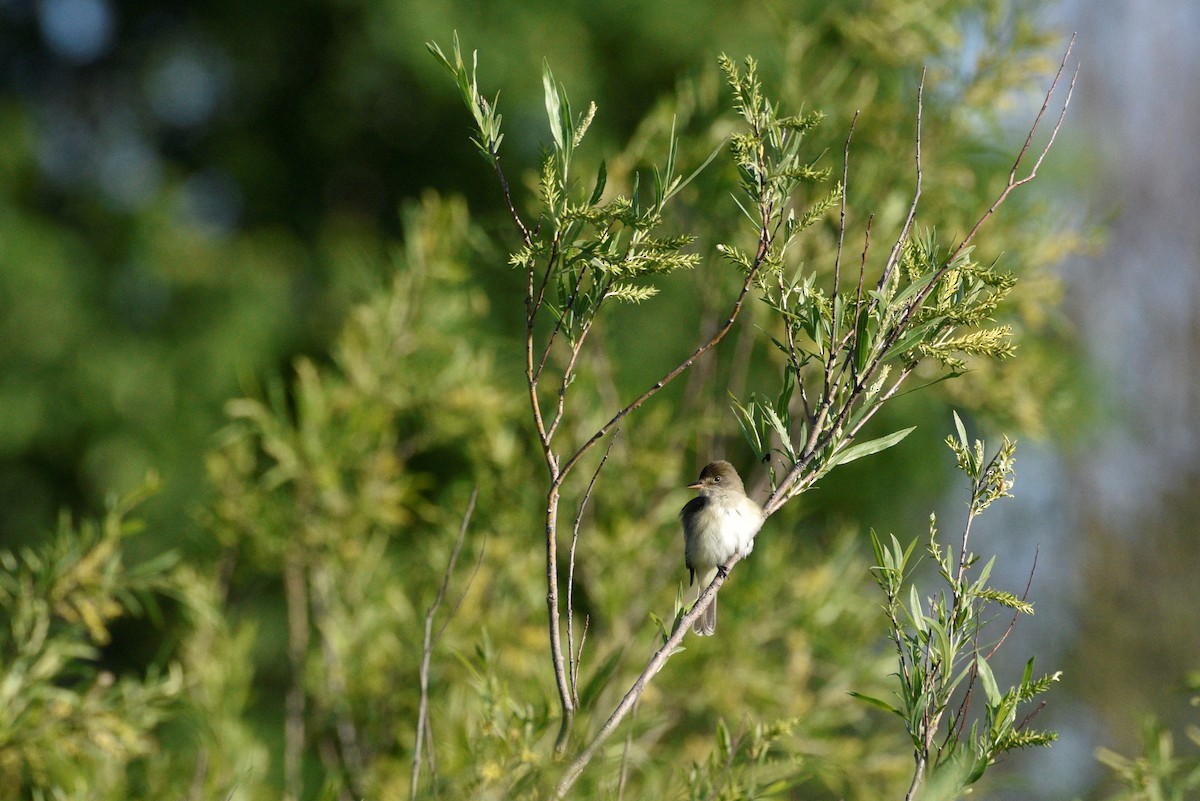
<path fill-rule="evenodd" d="M 595 150 L 580 158 L 607 158 L 610 183 L 626 189 L 665 152 L 672 126 L 684 170 L 728 135 L 715 54 L 752 53 L 785 104 L 826 113 L 814 152 L 835 173 L 860 112 L 847 221 L 859 235 L 847 252 L 860 253 L 868 215 L 872 239 L 887 242 L 907 209 L 922 66 L 931 91 L 923 212 L 953 237 L 990 203 L 1020 144 L 1003 113 L 1027 107 L 1031 82 L 1058 55 L 1033 5 L 814 0 L 703 4 L 684 16 L 628 2 L 146 7 L 122 11 L 130 24 L 110 60 L 6 92 L 4 536 L 35 538 L 64 504 L 98 508 L 148 466 L 166 477 L 134 540 L 118 534 L 122 505 L 101 525 L 64 524 L 41 549 L 5 556 L 10 787 L 92 799 L 404 797 L 424 615 L 473 489 L 466 555 L 450 577 L 457 606 L 431 662 L 436 763 L 420 790 L 521 797 L 557 778 L 521 288 L 504 264 L 511 241 L 496 233 L 499 192 L 426 40 L 457 29 L 480 49 L 482 90 L 503 90 L 505 157 L 522 177 L 545 138 L 546 56 L 574 97 L 598 103 Z M 155 118 L 128 89 L 179 53 L 198 53 L 222 88 L 203 122 Z M 90 80 L 77 83 L 76 70 Z M 43 170 L 52 112 L 86 112 L 102 97 L 132 103 L 160 168 L 132 204 L 88 171 L 64 183 Z M 100 135 L 95 112 L 79 119 Z M 720 163 L 682 198 L 683 216 L 710 237 L 701 253 L 740 224 L 727 199 L 732 167 Z M 234 222 L 196 212 L 197 176 L 236 187 Z M 534 182 L 514 187 L 522 210 Z M 414 199 L 425 186 L 443 192 Z M 1049 266 L 1079 239 L 1054 209 L 1019 198 L 976 257 L 1003 254 L 1020 276 L 1001 317 L 1033 353 L 941 385 L 943 402 L 1028 430 L 1058 424 L 1070 403 Z M 835 235 L 834 221 L 815 225 L 797 258 L 828 265 Z M 686 353 L 737 279 L 712 267 L 670 277 L 649 313 L 622 312 L 593 335 L 606 357 L 581 368 L 589 392 L 611 405 Z M 648 613 L 670 619 L 683 574 L 680 487 L 709 457 L 745 463 L 727 392 L 766 365 L 755 331 L 764 312 L 750 307 L 727 347 L 616 440 L 576 554 L 581 683 L 592 688 L 583 729 L 653 646 Z M 923 423 L 936 442 L 940 403 L 904 399 L 881 424 Z M 881 517 L 912 530 L 928 512 L 950 465 L 924 458 L 919 436 L 830 476 L 773 520 L 725 590 L 722 615 L 736 625 L 676 657 L 581 797 L 902 793 L 905 736 L 848 692 L 888 692 L 860 531 Z M 188 559 L 131 568 L 118 543 Z M 72 576 L 82 595 L 55 595 Z M 155 598 L 173 609 L 167 621 L 136 619 Z M 103 649 L 114 620 L 160 646 L 128 664 Z"/>

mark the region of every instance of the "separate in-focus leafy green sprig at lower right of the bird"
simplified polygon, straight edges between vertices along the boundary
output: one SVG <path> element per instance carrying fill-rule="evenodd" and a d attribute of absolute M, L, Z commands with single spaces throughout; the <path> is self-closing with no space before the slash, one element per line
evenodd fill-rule
<path fill-rule="evenodd" d="M 1006 439 L 984 462 L 983 442 L 976 440 L 968 447 L 958 415 L 955 423 L 959 439 L 950 438 L 949 444 L 971 481 L 971 506 L 956 559 L 953 548 L 938 542 L 936 520 L 930 519 L 926 552 L 943 589 L 924 595 L 912 583 L 916 540 L 904 548 L 894 535 L 887 544 L 871 531 L 876 559 L 872 572 L 884 595 L 883 609 L 898 657 L 899 704 L 859 697 L 904 721 L 918 765 L 910 797 L 926 771 L 930 781 L 936 777 L 946 797 L 958 797 L 1000 754 L 1045 746 L 1057 737 L 1054 731 L 1028 727 L 1040 706 L 1021 718 L 1018 715 L 1058 681 L 1061 673 L 1036 677 L 1031 657 L 1020 681 L 1001 689 L 990 660 L 1007 638 L 1007 631 L 990 648 L 982 644 L 989 604 L 1013 612 L 1009 628 L 1018 615 L 1032 615 L 1033 604 L 988 583 L 995 558 L 974 576 L 970 572 L 978 562 L 967 550 L 971 523 L 1012 486 L 1014 445 Z M 974 699 L 979 693 L 982 701 Z M 972 710 L 980 704 L 980 712 Z"/>

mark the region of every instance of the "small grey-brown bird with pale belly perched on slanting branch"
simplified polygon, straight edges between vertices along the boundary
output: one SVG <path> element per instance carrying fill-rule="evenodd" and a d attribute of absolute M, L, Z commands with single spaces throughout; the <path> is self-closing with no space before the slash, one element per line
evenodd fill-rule
<path fill-rule="evenodd" d="M 688 484 L 700 495 L 679 512 L 683 519 L 684 561 L 689 585 L 700 573 L 696 597 L 713 583 L 716 571 L 734 554 L 754 549 L 754 537 L 762 528 L 762 507 L 746 495 L 738 471 L 728 462 L 713 462 L 700 471 L 700 480 Z M 701 615 L 692 631 L 707 637 L 716 631 L 716 598 Z"/>

